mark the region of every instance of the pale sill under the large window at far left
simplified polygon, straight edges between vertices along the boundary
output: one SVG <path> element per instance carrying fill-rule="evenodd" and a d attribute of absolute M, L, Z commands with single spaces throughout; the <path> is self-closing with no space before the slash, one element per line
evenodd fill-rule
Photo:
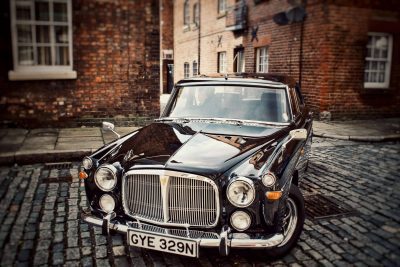
<path fill-rule="evenodd" d="M 70 80 L 76 79 L 77 74 L 74 70 L 67 71 L 9 71 L 10 81 L 29 81 L 29 80 Z"/>

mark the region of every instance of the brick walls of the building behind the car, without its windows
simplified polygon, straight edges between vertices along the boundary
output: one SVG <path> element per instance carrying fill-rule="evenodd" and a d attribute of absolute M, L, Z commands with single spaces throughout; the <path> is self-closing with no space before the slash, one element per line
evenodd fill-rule
<path fill-rule="evenodd" d="M 183 63 L 198 56 L 198 34 L 182 30 L 183 2 L 174 2 L 175 81 L 183 77 Z M 192 7 L 196 1 L 189 2 Z M 309 0 L 304 24 L 286 26 L 278 26 L 272 17 L 290 8 L 287 1 L 269 0 L 255 4 L 246 0 L 246 3 L 248 27 L 241 34 L 233 34 L 225 31 L 225 17 L 218 17 L 216 1 L 201 1 L 201 73 L 217 71 L 217 53 L 220 51 L 227 51 L 228 72 L 233 71 L 233 49 L 239 44 L 245 48 L 246 71 L 254 72 L 255 49 L 267 45 L 269 72 L 285 73 L 297 80 L 301 76 L 306 102 L 316 114 L 329 111 L 333 119 L 400 115 L 398 1 Z M 252 40 L 252 28 L 257 26 L 258 41 Z M 388 90 L 364 89 L 365 46 L 371 31 L 390 32 L 394 37 Z M 220 46 L 218 35 L 223 36 Z"/>

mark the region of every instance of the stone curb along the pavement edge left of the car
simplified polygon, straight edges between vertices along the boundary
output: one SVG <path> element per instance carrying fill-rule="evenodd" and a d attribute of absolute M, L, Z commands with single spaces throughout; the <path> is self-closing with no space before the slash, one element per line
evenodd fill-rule
<path fill-rule="evenodd" d="M 81 160 L 84 156 L 91 154 L 95 149 L 80 150 L 36 150 L 17 151 L 0 154 L 0 165 L 10 164 L 33 164 L 43 162 L 59 162 Z"/>

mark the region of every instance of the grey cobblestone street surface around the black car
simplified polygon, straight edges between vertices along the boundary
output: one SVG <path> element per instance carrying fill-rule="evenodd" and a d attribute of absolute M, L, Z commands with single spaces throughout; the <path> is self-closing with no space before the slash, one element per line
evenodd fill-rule
<path fill-rule="evenodd" d="M 301 189 L 352 212 L 308 217 L 298 245 L 282 259 L 244 251 L 223 258 L 217 250 L 191 259 L 128 248 L 123 235 L 107 239 L 79 220 L 87 204 L 73 163 L 62 172 L 44 164 L 0 167 L 0 265 L 398 266 L 400 144 L 326 140 L 314 139 Z"/>

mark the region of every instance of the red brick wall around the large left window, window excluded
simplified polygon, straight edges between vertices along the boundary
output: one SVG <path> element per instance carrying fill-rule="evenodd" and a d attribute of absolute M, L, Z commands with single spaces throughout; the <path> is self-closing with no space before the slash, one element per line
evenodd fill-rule
<path fill-rule="evenodd" d="M 9 81 L 9 1 L 1 1 L 0 120 L 67 126 L 98 117 L 159 113 L 159 6 L 152 1 L 73 0 L 75 80 Z"/>

